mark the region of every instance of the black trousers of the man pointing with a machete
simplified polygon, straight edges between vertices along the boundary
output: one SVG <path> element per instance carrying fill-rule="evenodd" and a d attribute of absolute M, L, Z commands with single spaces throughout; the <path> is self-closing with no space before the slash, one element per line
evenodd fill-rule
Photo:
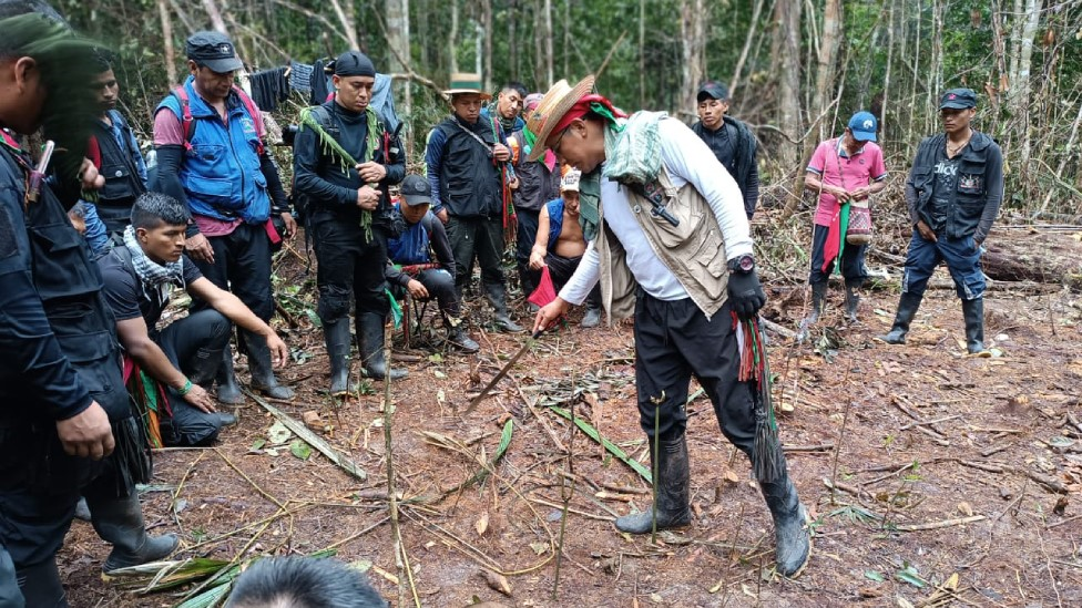
<path fill-rule="evenodd" d="M 751 457 L 755 441 L 753 387 L 736 380 L 739 353 L 729 303 L 710 320 L 691 299 L 663 301 L 639 290 L 635 303 L 635 382 L 639 421 L 662 440 L 687 427 L 687 389 L 702 384 L 722 433 Z"/>

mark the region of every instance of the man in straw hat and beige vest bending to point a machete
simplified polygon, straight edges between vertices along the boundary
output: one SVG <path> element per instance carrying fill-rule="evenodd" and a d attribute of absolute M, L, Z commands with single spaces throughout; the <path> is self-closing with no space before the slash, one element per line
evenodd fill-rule
<path fill-rule="evenodd" d="M 599 280 L 609 318 L 634 316 L 635 382 L 651 445 L 654 506 L 617 518 L 620 530 L 691 524 L 684 431 L 694 374 L 722 433 L 752 461 L 774 519 L 777 571 L 798 576 L 810 553 L 807 514 L 788 477 L 769 405 L 757 329 L 766 296 L 755 275 L 741 189 L 683 123 L 653 112 L 625 118 L 592 93 L 593 82 L 558 82 L 527 116 L 537 134 L 534 157 L 551 148 L 582 171 L 580 224 L 591 241 L 560 296 L 538 312 L 534 331 L 584 301 Z"/>

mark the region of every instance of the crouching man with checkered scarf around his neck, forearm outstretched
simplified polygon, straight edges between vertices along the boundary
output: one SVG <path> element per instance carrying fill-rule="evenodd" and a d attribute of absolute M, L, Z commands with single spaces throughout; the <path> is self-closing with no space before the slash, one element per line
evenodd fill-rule
<path fill-rule="evenodd" d="M 146 405 L 147 436 L 152 444 L 207 445 L 231 414 L 216 411 L 204 385 L 214 381 L 222 351 L 235 322 L 265 337 L 275 367 L 285 364 L 289 351 L 267 323 L 228 291 L 203 277 L 184 256 L 187 208 L 175 198 L 146 193 L 132 207 L 132 224 L 124 231 L 124 247 L 115 247 L 98 260 L 105 282 L 105 301 L 116 317 L 116 333 L 127 358 L 143 373 L 164 387 L 165 400 L 136 394 Z M 210 308 L 174 321 L 162 330 L 157 321 L 173 287 L 181 287 Z M 135 382 L 142 387 L 142 382 Z M 153 414 L 153 415 L 147 415 Z M 153 424 L 159 419 L 160 424 Z M 155 427 L 157 426 L 157 427 Z"/>

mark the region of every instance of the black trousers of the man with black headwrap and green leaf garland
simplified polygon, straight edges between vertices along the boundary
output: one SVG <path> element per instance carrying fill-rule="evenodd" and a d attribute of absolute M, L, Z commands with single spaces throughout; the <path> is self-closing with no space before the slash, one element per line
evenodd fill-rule
<path fill-rule="evenodd" d="M 372 226 L 372 239 L 356 224 L 335 218 L 327 212 L 316 212 L 310 220 L 312 244 L 316 250 L 318 269 L 316 285 L 319 305 L 316 308 L 324 322 L 349 316 L 349 297 L 356 300 L 356 315 L 365 312 L 387 315 L 387 236 Z"/>

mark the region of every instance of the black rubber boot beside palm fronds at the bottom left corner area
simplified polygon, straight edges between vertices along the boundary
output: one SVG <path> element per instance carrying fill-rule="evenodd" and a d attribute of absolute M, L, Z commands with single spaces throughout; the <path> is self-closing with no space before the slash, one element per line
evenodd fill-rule
<path fill-rule="evenodd" d="M 143 507 L 134 490 L 125 498 L 90 497 L 86 502 L 98 536 L 113 545 L 113 552 L 102 565 L 105 573 L 164 559 L 181 543 L 175 534 L 146 534 Z"/>

